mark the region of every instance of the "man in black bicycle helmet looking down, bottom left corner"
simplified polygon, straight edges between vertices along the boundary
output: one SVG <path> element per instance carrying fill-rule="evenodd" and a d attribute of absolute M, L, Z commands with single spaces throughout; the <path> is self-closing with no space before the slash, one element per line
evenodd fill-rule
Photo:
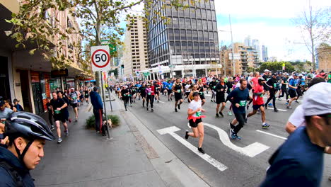
<path fill-rule="evenodd" d="M 45 120 L 33 113 L 11 113 L 5 125 L 9 144 L 8 149 L 0 147 L 0 186 L 35 186 L 29 171 L 44 157 L 45 140 L 55 137 Z"/>

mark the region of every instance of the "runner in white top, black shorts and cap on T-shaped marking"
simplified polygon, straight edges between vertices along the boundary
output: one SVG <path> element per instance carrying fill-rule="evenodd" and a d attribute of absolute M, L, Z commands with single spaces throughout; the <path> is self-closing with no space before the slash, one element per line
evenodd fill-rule
<path fill-rule="evenodd" d="M 202 101 L 199 99 L 199 93 L 195 92 L 193 94 L 194 100 L 190 102 L 187 110 L 187 119 L 189 120 L 190 126 L 193 132 L 185 132 L 185 139 L 188 137 L 199 137 L 198 151 L 204 154 L 204 149 L 202 149 L 202 142 L 204 142 L 204 123 L 202 123 L 202 118 L 204 115 L 201 115 L 202 112 L 205 112 L 202 108 Z"/>

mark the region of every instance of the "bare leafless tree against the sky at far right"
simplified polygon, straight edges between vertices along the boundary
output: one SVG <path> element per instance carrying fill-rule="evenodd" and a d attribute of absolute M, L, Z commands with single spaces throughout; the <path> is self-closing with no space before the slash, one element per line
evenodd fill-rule
<path fill-rule="evenodd" d="M 331 7 L 313 10 L 309 5 L 308 10 L 303 11 L 293 22 L 301 29 L 303 41 L 311 54 L 313 69 L 315 70 L 315 59 L 318 53 L 317 46 L 321 42 L 330 43 L 331 33 Z"/>

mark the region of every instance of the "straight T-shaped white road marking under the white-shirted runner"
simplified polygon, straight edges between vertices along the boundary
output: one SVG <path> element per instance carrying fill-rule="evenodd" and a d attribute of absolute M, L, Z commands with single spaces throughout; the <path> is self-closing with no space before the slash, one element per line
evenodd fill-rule
<path fill-rule="evenodd" d="M 180 128 L 172 126 L 170 128 L 163 128 L 163 129 L 160 129 L 160 130 L 157 130 L 157 131 L 160 135 L 169 134 L 169 135 L 173 136 L 176 140 L 178 140 L 178 142 L 182 143 L 182 145 L 185 145 L 185 147 L 187 147 L 192 152 L 197 154 L 197 156 L 201 157 L 205 161 L 209 162 L 209 164 L 211 164 L 212 166 L 219 169 L 219 171 L 224 171 L 224 170 L 228 169 L 227 166 L 225 166 L 224 164 L 221 164 L 221 162 L 218 162 L 216 159 L 210 157 L 208 154 L 199 153 L 198 150 L 197 150 L 197 147 L 194 147 L 192 144 L 190 144 L 190 142 L 187 142 L 186 140 L 184 140 L 184 138 L 180 137 L 179 135 L 177 135 L 175 133 L 178 130 L 180 130 Z"/>

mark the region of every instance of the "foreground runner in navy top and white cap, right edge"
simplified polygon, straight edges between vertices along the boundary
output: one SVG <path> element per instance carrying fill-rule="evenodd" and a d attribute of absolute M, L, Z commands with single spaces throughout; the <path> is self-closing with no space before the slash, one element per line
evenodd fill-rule
<path fill-rule="evenodd" d="M 269 159 L 260 186 L 320 186 L 326 147 L 331 146 L 331 84 L 311 86 L 303 97 L 306 126 L 295 130 Z"/>

